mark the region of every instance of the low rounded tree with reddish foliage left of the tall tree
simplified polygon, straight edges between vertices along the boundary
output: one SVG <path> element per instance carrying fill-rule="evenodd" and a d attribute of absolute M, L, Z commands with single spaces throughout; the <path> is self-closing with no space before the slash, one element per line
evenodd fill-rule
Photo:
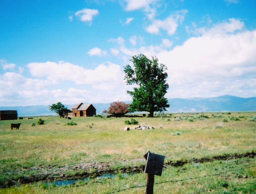
<path fill-rule="evenodd" d="M 124 114 L 128 113 L 129 104 L 125 104 L 125 102 L 112 102 L 110 104 L 108 113 L 114 116 L 124 116 Z"/>

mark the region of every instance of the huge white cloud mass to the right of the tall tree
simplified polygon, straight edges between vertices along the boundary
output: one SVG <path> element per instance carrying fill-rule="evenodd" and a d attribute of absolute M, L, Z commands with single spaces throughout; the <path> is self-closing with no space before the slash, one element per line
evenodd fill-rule
<path fill-rule="evenodd" d="M 253 96 L 248 79 L 256 75 L 256 31 L 237 32 L 242 26 L 239 20 L 230 19 L 172 51 L 158 53 L 159 62 L 168 67 L 168 97 L 243 96 L 242 92 L 248 95 L 247 88 Z M 178 90 L 184 86 L 181 95 Z"/>

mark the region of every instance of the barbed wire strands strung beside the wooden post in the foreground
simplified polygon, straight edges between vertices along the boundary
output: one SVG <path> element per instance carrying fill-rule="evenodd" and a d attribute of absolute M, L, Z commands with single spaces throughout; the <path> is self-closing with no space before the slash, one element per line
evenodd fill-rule
<path fill-rule="evenodd" d="M 154 185 L 163 184 L 163 183 L 180 182 L 180 181 L 186 181 L 186 180 L 192 180 L 192 179 L 198 179 L 198 178 L 204 178 L 204 177 L 210 177 L 210 176 L 219 176 L 219 175 L 221 175 L 221 174 L 225 174 L 225 173 L 228 173 L 228 172 L 239 171 L 239 170 L 242 170 L 242 169 L 245 169 L 245 168 L 252 168 L 252 167 L 256 167 L 256 166 L 247 166 L 247 167 L 243 167 L 243 168 L 239 168 L 239 169 L 234 169 L 234 170 L 229 170 L 229 171 L 225 171 L 225 172 L 220 172 L 220 173 L 217 173 L 217 174 L 211 174 L 211 175 L 205 175 L 205 176 L 199 176 L 199 177 L 191 177 L 191 178 L 180 179 L 180 180 L 163 181 L 163 182 L 160 182 L 160 183 L 154 183 Z M 249 185 L 249 184 L 256 184 L 256 181 L 255 181 L 255 182 L 252 182 L 252 183 L 241 184 L 241 185 L 232 185 L 232 186 L 226 186 L 226 187 L 212 188 L 212 189 L 203 190 L 203 191 L 196 192 L 196 193 L 202 193 L 202 192 L 211 191 L 211 190 L 217 190 L 217 189 L 223 189 L 223 188 L 230 188 L 230 187 L 236 187 L 236 186 L 243 186 L 243 185 Z M 146 185 L 129 187 L 129 188 L 125 188 L 125 189 L 121 189 L 121 190 L 117 190 L 117 191 L 113 191 L 113 192 L 105 193 L 105 194 L 117 193 L 117 192 L 129 190 L 129 189 L 134 189 L 134 188 L 139 188 L 139 187 L 146 187 Z M 195 193 L 189 193 L 189 194 L 195 194 Z"/>

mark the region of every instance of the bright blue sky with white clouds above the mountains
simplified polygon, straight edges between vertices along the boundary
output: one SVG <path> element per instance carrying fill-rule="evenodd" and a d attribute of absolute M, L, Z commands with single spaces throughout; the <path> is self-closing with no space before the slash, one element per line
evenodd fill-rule
<path fill-rule="evenodd" d="M 129 101 L 123 67 L 140 53 L 167 66 L 168 99 L 256 96 L 255 10 L 254 0 L 0 0 L 0 106 Z"/>

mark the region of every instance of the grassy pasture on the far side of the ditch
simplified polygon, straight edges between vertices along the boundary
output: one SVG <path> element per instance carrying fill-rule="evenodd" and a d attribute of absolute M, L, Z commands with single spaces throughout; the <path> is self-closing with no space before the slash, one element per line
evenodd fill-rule
<path fill-rule="evenodd" d="M 147 151 L 165 155 L 165 162 L 251 152 L 256 145 L 255 122 L 246 118 L 253 115 L 255 112 L 136 117 L 139 125 L 155 129 L 134 130 L 136 125 L 129 125 L 130 131 L 123 131 L 127 118 L 76 117 L 73 126 L 58 116 L 0 121 L 0 175 L 5 177 L 0 184 L 41 173 L 39 168 L 50 172 L 48 166 L 110 163 L 112 169 L 132 168 L 145 163 Z M 32 126 L 39 118 L 45 124 Z M 21 123 L 20 129 L 11 130 L 11 123 Z"/>

